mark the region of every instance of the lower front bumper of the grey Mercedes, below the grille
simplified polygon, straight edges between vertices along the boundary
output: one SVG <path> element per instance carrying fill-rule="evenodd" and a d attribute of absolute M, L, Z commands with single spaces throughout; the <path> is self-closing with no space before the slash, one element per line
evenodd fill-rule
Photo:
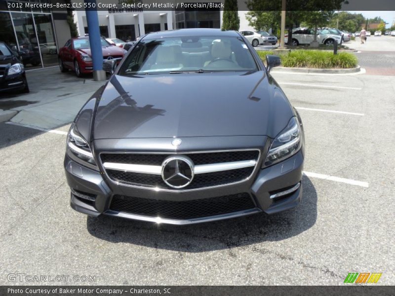
<path fill-rule="evenodd" d="M 95 217 L 108 215 L 148 222 L 183 225 L 235 218 L 260 212 L 274 214 L 296 207 L 302 198 L 303 160 L 303 149 L 301 149 L 283 162 L 265 169 L 257 168 L 253 180 L 249 182 L 186 192 L 153 191 L 116 185 L 108 181 L 103 172 L 84 167 L 68 155 L 65 157 L 64 165 L 67 182 L 72 189 L 70 204 L 76 211 Z M 290 188 L 290 193 L 281 195 L 283 192 L 289 191 Z M 252 199 L 253 207 L 251 208 L 192 219 L 167 219 L 110 209 L 113 197 L 119 194 L 133 196 L 140 200 L 182 203 L 246 193 Z M 280 196 L 273 198 L 276 196 L 275 194 Z"/>

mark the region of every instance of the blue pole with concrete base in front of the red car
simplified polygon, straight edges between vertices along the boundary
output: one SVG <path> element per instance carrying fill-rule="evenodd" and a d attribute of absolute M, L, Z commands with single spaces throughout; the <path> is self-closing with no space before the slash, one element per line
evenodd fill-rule
<path fill-rule="evenodd" d="M 103 52 L 99 30 L 99 19 L 97 17 L 96 0 L 84 0 L 86 23 L 88 25 L 90 52 L 93 62 L 93 79 L 95 81 L 106 80 L 103 71 Z"/>

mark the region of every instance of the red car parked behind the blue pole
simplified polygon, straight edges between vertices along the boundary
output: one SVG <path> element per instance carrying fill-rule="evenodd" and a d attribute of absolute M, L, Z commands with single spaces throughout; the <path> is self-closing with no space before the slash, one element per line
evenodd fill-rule
<path fill-rule="evenodd" d="M 103 61 L 114 59 L 119 64 L 123 58 L 124 50 L 111 45 L 101 38 Z M 76 37 L 68 40 L 59 50 L 59 68 L 61 72 L 74 70 L 78 77 L 84 73 L 92 73 L 93 63 L 88 37 Z"/>

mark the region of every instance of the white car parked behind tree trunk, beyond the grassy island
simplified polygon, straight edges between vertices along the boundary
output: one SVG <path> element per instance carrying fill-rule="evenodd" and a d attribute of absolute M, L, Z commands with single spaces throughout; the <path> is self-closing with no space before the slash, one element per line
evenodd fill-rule
<path fill-rule="evenodd" d="M 314 40 L 314 29 L 296 29 L 292 33 L 292 44 L 310 44 Z M 333 45 L 335 40 L 340 43 L 341 36 L 332 34 L 323 34 L 321 31 L 317 30 L 317 41 L 319 44 Z M 284 36 L 285 43 L 288 42 L 288 34 Z"/>

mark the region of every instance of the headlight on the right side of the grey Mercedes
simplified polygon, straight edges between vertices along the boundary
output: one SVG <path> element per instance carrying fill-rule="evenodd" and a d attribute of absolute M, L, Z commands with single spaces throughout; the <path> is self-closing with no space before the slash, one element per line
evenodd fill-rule
<path fill-rule="evenodd" d="M 299 151 L 302 146 L 300 125 L 296 117 L 278 134 L 269 149 L 264 167 L 280 162 Z"/>

